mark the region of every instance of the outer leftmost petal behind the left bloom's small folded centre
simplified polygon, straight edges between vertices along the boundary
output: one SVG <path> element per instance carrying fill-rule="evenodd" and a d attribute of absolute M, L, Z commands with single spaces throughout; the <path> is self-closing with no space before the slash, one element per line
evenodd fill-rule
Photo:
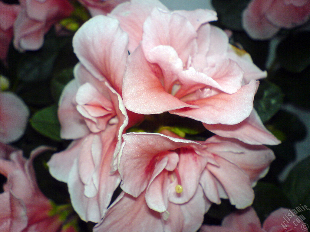
<path fill-rule="evenodd" d="M 60 135 L 63 139 L 78 139 L 90 133 L 83 116 L 76 109 L 75 95 L 78 82 L 70 81 L 64 88 L 58 107 L 58 119 L 61 125 Z"/>

